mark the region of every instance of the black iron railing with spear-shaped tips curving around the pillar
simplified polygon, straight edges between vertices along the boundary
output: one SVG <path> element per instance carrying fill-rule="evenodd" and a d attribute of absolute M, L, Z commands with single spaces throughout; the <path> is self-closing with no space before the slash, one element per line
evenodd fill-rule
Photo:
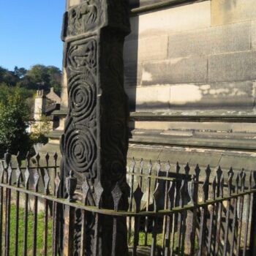
<path fill-rule="evenodd" d="M 80 255 L 98 255 L 97 219 L 101 216 L 108 216 L 113 222 L 113 233 L 109 234 L 113 256 L 118 244 L 116 230 L 120 228 L 117 218 L 127 219 L 131 255 L 255 255 L 253 172 L 235 173 L 230 168 L 223 173 L 221 167 L 211 171 L 209 166 L 200 170 L 198 165 L 192 170 L 189 165 L 171 167 L 168 162 L 157 162 L 153 167 L 143 160 L 137 168 L 133 159 L 127 171 L 129 208 L 119 211 L 123 195 L 118 184 L 112 192 L 112 209 L 101 207 L 104 190 L 100 183 L 94 188 L 95 204 L 91 206 L 88 196 L 92 188 L 87 181 L 81 186 L 83 198 L 75 199 L 77 178 L 72 171 L 65 178 L 66 198 L 61 197 L 56 154 L 51 165 L 48 154 L 43 159 L 37 154 L 34 162 L 31 165 L 28 156 L 25 169 L 19 157 L 0 163 L 0 255 L 58 255 L 58 250 L 63 255 L 73 255 L 75 239 L 79 241 Z M 78 209 L 81 222 L 75 234 Z M 39 218 L 41 211 L 43 217 Z M 86 254 L 89 213 L 96 219 L 96 225 L 94 252 Z M 38 233 L 39 221 L 42 234 Z M 43 236 L 41 244 L 38 236 Z"/>

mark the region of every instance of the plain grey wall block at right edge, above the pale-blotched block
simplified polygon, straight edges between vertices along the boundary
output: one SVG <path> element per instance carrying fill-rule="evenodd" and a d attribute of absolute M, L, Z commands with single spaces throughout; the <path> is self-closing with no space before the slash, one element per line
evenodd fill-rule
<path fill-rule="evenodd" d="M 208 81 L 256 79 L 256 51 L 208 57 Z"/>

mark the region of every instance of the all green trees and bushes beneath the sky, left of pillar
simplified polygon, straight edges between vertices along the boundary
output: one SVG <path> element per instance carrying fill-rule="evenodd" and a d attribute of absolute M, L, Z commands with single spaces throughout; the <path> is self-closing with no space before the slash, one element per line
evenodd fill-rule
<path fill-rule="evenodd" d="M 29 70 L 15 67 L 13 71 L 0 67 L 0 157 L 7 148 L 12 154 L 25 153 L 33 143 L 47 143 L 45 135 L 50 131 L 50 122 L 45 116 L 40 125 L 35 124 L 31 136 L 27 129 L 36 90 L 47 92 L 50 87 L 61 94 L 61 70 L 58 67 L 37 64 Z"/>

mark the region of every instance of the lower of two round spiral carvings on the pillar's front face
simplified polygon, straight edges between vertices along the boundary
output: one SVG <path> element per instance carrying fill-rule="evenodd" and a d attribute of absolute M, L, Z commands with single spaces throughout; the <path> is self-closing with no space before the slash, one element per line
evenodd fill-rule
<path fill-rule="evenodd" d="M 67 132 L 65 155 L 69 167 L 79 173 L 90 172 L 97 158 L 97 146 L 94 135 L 86 127 L 76 126 Z"/>

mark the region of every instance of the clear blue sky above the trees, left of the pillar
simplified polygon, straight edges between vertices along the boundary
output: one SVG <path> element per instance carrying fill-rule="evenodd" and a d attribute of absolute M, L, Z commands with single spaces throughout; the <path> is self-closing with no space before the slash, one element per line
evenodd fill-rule
<path fill-rule="evenodd" d="M 61 68 L 65 0 L 0 0 L 0 66 Z"/>

